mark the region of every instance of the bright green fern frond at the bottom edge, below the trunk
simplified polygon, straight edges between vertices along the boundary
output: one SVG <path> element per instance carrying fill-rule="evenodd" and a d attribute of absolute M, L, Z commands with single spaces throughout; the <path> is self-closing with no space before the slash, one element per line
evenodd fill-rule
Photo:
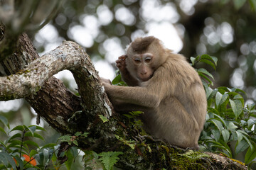
<path fill-rule="evenodd" d="M 105 166 L 105 169 L 111 170 L 114 164 L 117 163 L 119 154 L 123 154 L 123 152 L 102 152 L 99 154 L 101 157 L 99 160 Z"/>

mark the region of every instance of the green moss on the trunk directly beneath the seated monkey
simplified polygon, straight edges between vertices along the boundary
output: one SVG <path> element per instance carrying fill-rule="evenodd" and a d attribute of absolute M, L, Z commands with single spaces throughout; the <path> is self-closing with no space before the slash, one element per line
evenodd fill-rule
<path fill-rule="evenodd" d="M 134 135 L 142 134 L 144 130 L 136 125 L 136 120 L 131 118 L 123 118 L 124 125 L 119 126 L 115 134 L 122 139 L 133 140 L 134 149 L 129 147 L 126 142 L 119 140 L 118 151 L 124 152 L 120 157 L 121 164 L 117 167 L 122 169 L 208 169 L 208 164 L 204 165 L 204 159 L 208 157 L 200 151 L 180 149 L 166 145 L 160 140 L 154 140 L 149 135 Z M 124 163 L 125 162 L 125 163 Z M 126 166 L 124 167 L 124 164 Z"/>

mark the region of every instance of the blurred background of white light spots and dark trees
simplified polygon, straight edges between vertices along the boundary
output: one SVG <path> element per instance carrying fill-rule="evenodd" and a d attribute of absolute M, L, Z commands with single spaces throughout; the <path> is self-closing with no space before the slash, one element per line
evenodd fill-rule
<path fill-rule="evenodd" d="M 113 79 L 114 61 L 138 36 L 154 35 L 174 52 L 188 58 L 208 54 L 218 57 L 214 86 L 246 92 L 256 100 L 256 1 L 255 0 L 68 0 L 50 23 L 28 32 L 40 55 L 63 40 L 85 48 L 100 77 Z M 206 67 L 206 66 L 200 66 Z M 76 91 L 68 71 L 55 75 Z M 36 113 L 23 99 L 1 101 L 0 114 L 13 125 L 36 124 Z M 41 126 L 48 128 L 41 121 Z M 55 142 L 47 131 L 45 139 Z M 47 137 L 49 136 L 49 138 Z"/>

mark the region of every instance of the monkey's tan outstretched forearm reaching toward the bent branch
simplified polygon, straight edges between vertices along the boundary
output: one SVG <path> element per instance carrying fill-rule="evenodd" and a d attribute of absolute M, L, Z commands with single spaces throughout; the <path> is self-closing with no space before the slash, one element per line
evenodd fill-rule
<path fill-rule="evenodd" d="M 123 103 L 152 108 L 158 107 L 161 101 L 161 98 L 157 94 L 152 93 L 152 91 L 149 91 L 145 87 L 112 86 L 105 83 L 103 85 L 112 103 L 122 101 Z"/>

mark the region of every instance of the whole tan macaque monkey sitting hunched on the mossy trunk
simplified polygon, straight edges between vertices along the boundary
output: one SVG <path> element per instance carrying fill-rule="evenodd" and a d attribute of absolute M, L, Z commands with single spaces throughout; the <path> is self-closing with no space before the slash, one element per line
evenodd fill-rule
<path fill-rule="evenodd" d="M 206 117 L 206 93 L 182 55 L 153 36 L 137 38 L 116 61 L 129 86 L 103 82 L 116 111 L 143 111 L 149 134 L 178 147 L 198 148 Z"/>

